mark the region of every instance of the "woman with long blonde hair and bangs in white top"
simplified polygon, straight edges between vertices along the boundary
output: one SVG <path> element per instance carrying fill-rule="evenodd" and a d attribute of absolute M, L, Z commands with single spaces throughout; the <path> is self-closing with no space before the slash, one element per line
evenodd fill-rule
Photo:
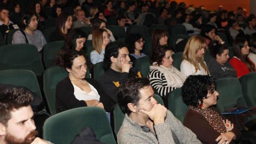
<path fill-rule="evenodd" d="M 189 75 L 208 75 L 209 70 L 204 61 L 207 45 L 205 39 L 199 35 L 189 38 L 182 56 L 183 61 L 180 70 L 186 76 Z"/>

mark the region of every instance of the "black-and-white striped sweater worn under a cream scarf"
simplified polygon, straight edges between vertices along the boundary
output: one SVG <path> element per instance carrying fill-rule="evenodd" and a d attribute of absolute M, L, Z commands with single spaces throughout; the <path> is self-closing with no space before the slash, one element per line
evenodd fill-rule
<path fill-rule="evenodd" d="M 147 77 L 150 80 L 150 85 L 157 90 L 161 97 L 165 97 L 167 93 L 176 89 L 175 87 L 167 86 L 164 74 L 157 69 L 150 70 Z"/>

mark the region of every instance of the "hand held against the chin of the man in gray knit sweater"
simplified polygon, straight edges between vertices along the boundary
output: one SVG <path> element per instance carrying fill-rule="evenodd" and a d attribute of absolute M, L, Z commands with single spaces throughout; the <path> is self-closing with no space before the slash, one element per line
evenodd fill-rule
<path fill-rule="evenodd" d="M 143 109 L 140 109 L 139 111 L 153 120 L 155 125 L 164 123 L 167 114 L 166 107 L 162 106 L 161 104 L 154 104 L 150 111 L 145 111 Z"/>

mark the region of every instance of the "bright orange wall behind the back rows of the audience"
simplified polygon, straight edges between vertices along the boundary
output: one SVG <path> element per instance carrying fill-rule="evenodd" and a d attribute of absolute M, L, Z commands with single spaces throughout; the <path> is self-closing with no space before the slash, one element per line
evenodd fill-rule
<path fill-rule="evenodd" d="M 223 8 L 228 11 L 235 11 L 238 6 L 246 8 L 247 12 L 250 12 L 250 0 L 176 0 L 179 2 L 185 2 L 187 6 L 194 4 L 195 7 L 204 5 L 206 9 L 216 10 L 219 5 L 223 5 Z"/>

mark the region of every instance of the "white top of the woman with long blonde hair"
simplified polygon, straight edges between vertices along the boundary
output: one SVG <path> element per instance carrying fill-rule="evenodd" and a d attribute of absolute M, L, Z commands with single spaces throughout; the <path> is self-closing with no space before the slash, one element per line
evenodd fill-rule
<path fill-rule="evenodd" d="M 205 61 L 204 61 L 205 63 Z M 204 70 L 204 68 L 198 63 L 200 70 L 197 70 L 195 72 L 195 67 L 186 60 L 183 60 L 180 64 L 180 71 L 188 77 L 189 75 L 207 75 L 207 72 Z M 206 65 L 206 63 L 205 63 Z"/>

